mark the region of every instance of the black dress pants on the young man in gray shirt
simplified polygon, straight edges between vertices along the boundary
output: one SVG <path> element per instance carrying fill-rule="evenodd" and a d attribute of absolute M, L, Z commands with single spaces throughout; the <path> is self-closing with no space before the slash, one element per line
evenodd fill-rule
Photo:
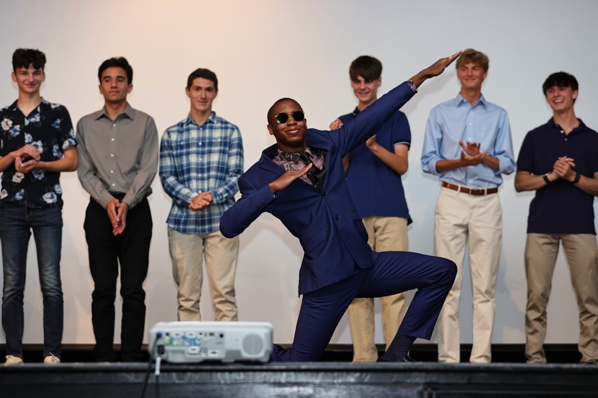
<path fill-rule="evenodd" d="M 95 285 L 91 295 L 91 322 L 96 336 L 93 348 L 96 361 L 117 361 L 112 344 L 119 262 L 120 295 L 123 298 L 121 356 L 123 362 L 141 361 L 145 323 L 143 283 L 148 271 L 152 230 L 147 198 L 129 210 L 126 227 L 117 236 L 112 234 L 106 209 L 92 199 L 87 206 L 84 229 L 89 246 L 89 267 Z"/>

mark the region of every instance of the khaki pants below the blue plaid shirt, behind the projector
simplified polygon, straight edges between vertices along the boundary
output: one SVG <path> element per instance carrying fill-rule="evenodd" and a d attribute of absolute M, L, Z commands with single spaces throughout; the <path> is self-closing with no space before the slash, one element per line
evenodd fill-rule
<path fill-rule="evenodd" d="M 239 256 L 239 237 L 228 239 L 220 231 L 203 235 L 182 234 L 169 227 L 168 243 L 172 274 L 178 286 L 178 320 L 202 320 L 199 300 L 202 296 L 204 255 L 215 320 L 237 320 L 234 274 Z"/>

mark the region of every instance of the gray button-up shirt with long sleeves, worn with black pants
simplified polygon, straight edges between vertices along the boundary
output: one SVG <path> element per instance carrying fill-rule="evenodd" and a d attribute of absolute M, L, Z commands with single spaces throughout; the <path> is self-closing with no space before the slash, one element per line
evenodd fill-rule
<path fill-rule="evenodd" d="M 124 194 L 132 209 L 151 194 L 158 169 L 158 130 L 154 119 L 127 103 L 124 112 L 111 120 L 104 107 L 77 123 L 77 174 L 83 188 L 104 208 Z"/>

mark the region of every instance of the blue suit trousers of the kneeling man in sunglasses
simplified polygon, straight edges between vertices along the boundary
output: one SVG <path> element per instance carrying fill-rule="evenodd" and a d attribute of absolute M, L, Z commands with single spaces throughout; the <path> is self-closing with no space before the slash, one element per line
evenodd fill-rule
<path fill-rule="evenodd" d="M 271 361 L 319 360 L 356 297 L 382 297 L 417 289 L 398 333 L 431 338 L 457 273 L 454 262 L 411 252 L 372 252 L 372 256 L 373 267 L 355 267 L 348 278 L 303 295 L 292 347 L 274 344 Z"/>

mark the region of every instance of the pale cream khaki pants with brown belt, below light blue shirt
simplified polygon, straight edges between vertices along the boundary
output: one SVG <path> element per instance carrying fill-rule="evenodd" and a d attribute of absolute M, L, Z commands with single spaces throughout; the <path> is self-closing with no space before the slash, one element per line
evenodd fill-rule
<path fill-rule="evenodd" d="M 460 362 L 459 299 L 465 244 L 469 239 L 473 288 L 473 344 L 469 361 L 490 362 L 496 275 L 502 244 L 498 194 L 477 196 L 441 188 L 434 226 L 435 254 L 457 264 L 457 277 L 438 317 L 438 361 Z"/>

